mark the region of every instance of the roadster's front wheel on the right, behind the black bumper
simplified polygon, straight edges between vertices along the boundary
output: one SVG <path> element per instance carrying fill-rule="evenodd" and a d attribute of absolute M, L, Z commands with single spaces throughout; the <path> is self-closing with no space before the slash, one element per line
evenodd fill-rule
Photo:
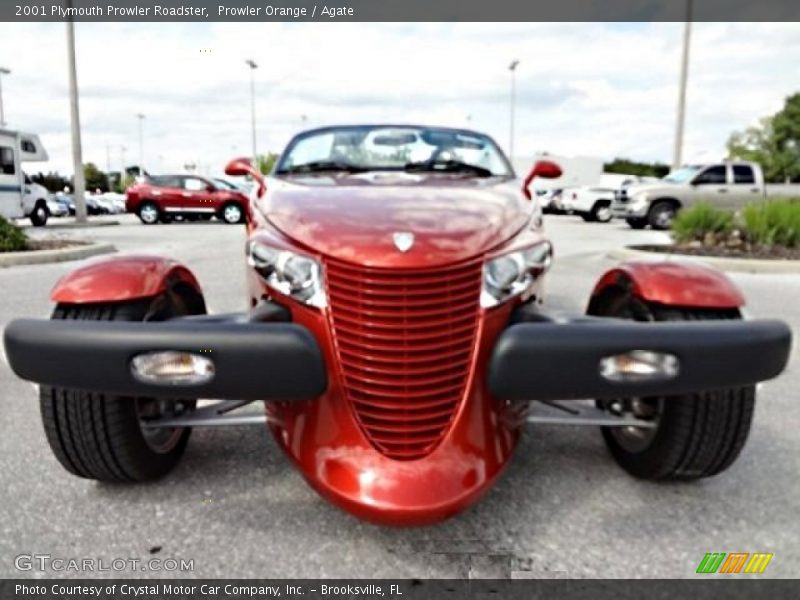
<path fill-rule="evenodd" d="M 605 316 L 646 321 L 739 319 L 739 311 L 667 308 L 620 296 Z M 716 475 L 739 456 L 750 432 L 755 387 L 659 398 L 598 401 L 612 413 L 632 413 L 656 426 L 603 427 L 617 463 L 641 479 L 692 480 Z"/>

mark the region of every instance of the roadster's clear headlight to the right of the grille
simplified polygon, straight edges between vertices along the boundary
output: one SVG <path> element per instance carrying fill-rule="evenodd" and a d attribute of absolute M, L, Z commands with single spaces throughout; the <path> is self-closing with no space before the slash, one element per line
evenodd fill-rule
<path fill-rule="evenodd" d="M 481 306 L 489 308 L 526 292 L 549 267 L 550 242 L 498 256 L 483 267 Z"/>

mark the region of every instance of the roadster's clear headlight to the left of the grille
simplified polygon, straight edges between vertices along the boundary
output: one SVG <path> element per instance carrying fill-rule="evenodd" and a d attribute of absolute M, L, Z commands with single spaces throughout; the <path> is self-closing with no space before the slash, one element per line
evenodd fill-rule
<path fill-rule="evenodd" d="M 280 293 L 310 306 L 324 308 L 327 305 L 322 269 L 314 259 L 250 241 L 247 244 L 247 263 L 267 285 Z"/>

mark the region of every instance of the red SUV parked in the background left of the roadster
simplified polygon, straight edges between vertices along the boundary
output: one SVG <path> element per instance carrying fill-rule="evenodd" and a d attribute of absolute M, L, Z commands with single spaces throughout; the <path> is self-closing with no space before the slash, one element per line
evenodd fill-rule
<path fill-rule="evenodd" d="M 233 186 L 223 187 L 196 175 L 159 175 L 128 188 L 125 207 L 145 225 L 169 223 L 173 216 L 226 223 L 245 220 L 248 199 Z"/>

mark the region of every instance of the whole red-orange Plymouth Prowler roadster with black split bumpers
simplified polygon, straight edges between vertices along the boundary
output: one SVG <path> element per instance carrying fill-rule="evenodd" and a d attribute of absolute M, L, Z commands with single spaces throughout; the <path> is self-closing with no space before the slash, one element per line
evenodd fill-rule
<path fill-rule="evenodd" d="M 601 427 L 637 477 L 719 473 L 755 383 L 786 365 L 788 327 L 742 320 L 742 295 L 698 266 L 625 264 L 587 315 L 542 310 L 552 246 L 528 188 L 560 169 L 538 162 L 520 189 L 485 135 L 316 129 L 267 180 L 246 159 L 227 173 L 256 181 L 248 312 L 206 315 L 185 267 L 123 256 L 59 281 L 51 320 L 7 327 L 68 471 L 152 479 L 192 427 L 255 421 L 338 506 L 431 523 L 491 486 L 530 422 Z M 233 412 L 257 400 L 263 415 Z"/>

